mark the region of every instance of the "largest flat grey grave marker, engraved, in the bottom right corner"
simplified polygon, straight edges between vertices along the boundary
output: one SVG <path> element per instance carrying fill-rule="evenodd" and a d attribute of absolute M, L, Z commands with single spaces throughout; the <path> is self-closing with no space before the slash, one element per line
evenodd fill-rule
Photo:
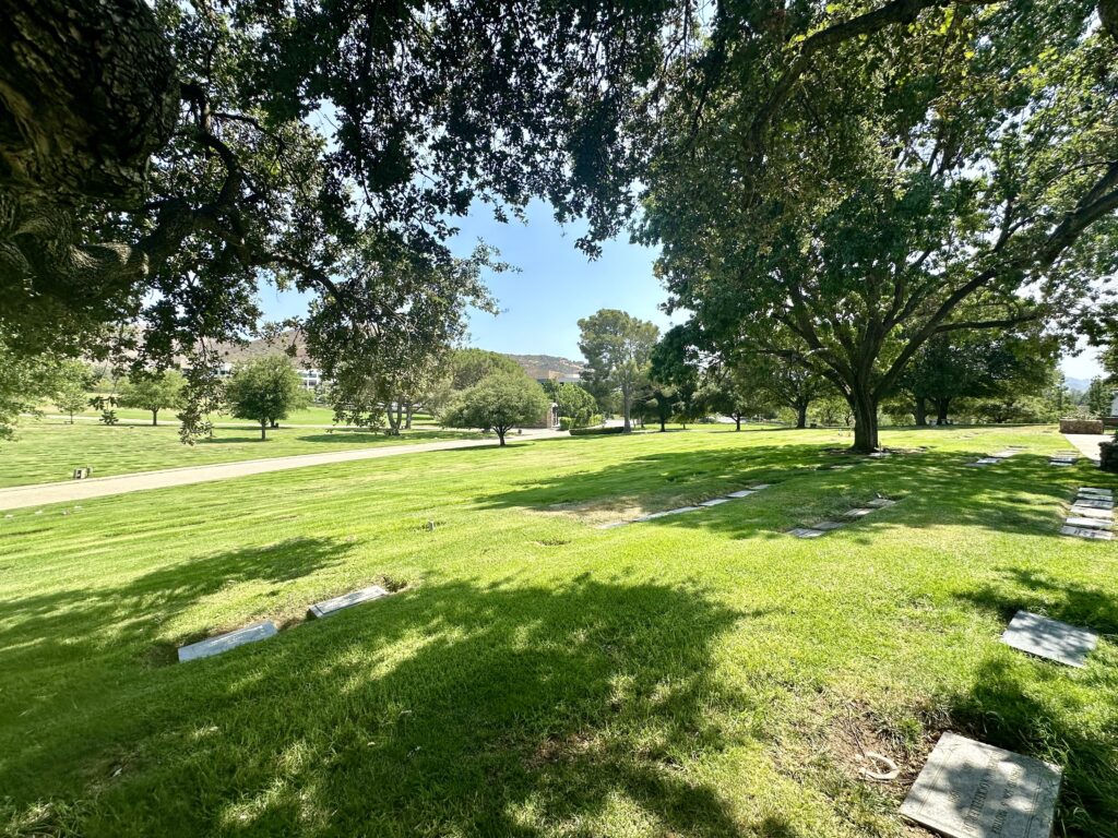
<path fill-rule="evenodd" d="M 1049 838 L 1062 770 L 945 733 L 901 815 L 948 838 Z"/>

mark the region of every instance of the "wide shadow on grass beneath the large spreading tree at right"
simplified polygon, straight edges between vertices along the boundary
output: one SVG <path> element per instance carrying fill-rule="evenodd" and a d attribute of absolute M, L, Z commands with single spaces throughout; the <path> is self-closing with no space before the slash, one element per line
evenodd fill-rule
<path fill-rule="evenodd" d="M 1060 503 L 1070 502 L 1074 486 L 1100 480 L 1095 470 L 1053 469 L 1046 455 L 1021 454 L 974 468 L 967 464 L 985 451 L 926 451 L 851 460 L 828 454 L 831 447 L 830 442 L 815 442 L 639 451 L 629 460 L 600 468 L 534 476 L 480 498 L 479 504 L 563 512 L 585 516 L 594 524 L 693 505 L 769 483 L 771 488 L 764 493 L 639 526 L 775 537 L 794 526 L 835 518 L 881 494 L 904 503 L 850 523 L 843 532 L 868 536 L 902 522 L 907 527 L 949 523 L 1049 535 L 1059 531 Z M 834 468 L 847 463 L 852 463 L 849 469 Z"/>

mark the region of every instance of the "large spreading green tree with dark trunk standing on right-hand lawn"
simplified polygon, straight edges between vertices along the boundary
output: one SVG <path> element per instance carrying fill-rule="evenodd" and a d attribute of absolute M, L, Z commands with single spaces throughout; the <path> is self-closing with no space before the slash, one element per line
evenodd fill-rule
<path fill-rule="evenodd" d="M 1118 41 L 1096 11 L 719 4 L 650 128 L 638 232 L 671 305 L 827 378 L 862 451 L 932 336 L 1070 327 L 1118 267 Z"/>

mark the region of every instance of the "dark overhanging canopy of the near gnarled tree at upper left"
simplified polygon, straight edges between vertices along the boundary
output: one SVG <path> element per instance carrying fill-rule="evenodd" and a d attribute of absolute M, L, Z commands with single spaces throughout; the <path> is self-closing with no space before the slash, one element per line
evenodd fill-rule
<path fill-rule="evenodd" d="M 0 341 L 136 369 L 250 332 L 260 282 L 390 324 L 349 265 L 451 269 L 454 219 L 631 204 L 667 0 L 0 4 Z M 66 25 L 56 25 L 67 21 Z M 329 302 L 326 302 L 329 301 Z M 105 340 L 102 324 L 142 322 Z M 197 411 L 193 411 L 197 412 Z"/>

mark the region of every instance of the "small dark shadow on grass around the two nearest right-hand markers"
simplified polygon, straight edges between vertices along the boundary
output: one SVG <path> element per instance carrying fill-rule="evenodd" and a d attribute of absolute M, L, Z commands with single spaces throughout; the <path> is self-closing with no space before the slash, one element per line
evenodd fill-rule
<path fill-rule="evenodd" d="M 1068 836 L 1118 837 L 1118 599 L 1097 589 L 1016 568 L 1003 569 L 1004 587 L 983 585 L 959 599 L 1008 625 L 1018 610 L 1110 636 L 1077 670 L 1025 653 L 987 659 L 966 693 L 951 698 L 951 715 L 977 739 L 1046 760 L 1064 769 L 1058 813 Z M 1087 705 L 1083 685 L 1109 694 Z M 1079 724 L 1076 724 L 1078 722 Z M 1059 831 L 1059 830 L 1058 830 Z"/>

